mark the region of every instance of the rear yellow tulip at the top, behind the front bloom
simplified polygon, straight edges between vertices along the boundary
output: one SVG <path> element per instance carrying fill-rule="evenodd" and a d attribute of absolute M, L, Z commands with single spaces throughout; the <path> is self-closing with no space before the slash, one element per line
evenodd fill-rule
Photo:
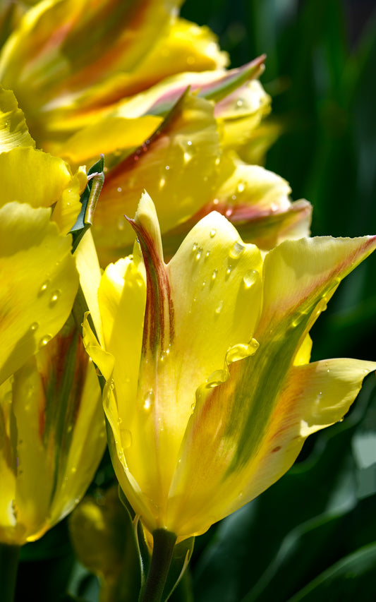
<path fill-rule="evenodd" d="M 176 17 L 180 4 L 50 0 L 28 11 L 1 52 L 1 80 L 37 144 L 73 169 L 106 157 L 92 229 L 103 266 L 131 251 L 121 215 L 134 214 L 144 188 L 167 257 L 213 209 L 263 250 L 309 234 L 310 204 L 291 203 L 284 180 L 247 164 L 262 162 L 274 139 L 261 126 L 265 57 L 226 71 L 210 31 Z"/>

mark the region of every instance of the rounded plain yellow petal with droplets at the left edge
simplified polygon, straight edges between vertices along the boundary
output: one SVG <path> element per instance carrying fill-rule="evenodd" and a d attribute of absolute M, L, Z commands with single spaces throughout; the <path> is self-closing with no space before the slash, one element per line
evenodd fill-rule
<path fill-rule="evenodd" d="M 49 217 L 25 203 L 0 208 L 0 383 L 56 335 L 73 306 L 71 242 Z"/>

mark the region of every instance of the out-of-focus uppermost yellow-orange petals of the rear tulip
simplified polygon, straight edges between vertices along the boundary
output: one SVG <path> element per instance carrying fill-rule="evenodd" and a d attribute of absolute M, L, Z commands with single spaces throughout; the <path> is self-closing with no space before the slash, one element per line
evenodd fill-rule
<path fill-rule="evenodd" d="M 167 76 L 227 64 L 208 28 L 176 16 L 181 4 L 49 0 L 30 8 L 1 52 L 0 72 L 43 148 Z"/>

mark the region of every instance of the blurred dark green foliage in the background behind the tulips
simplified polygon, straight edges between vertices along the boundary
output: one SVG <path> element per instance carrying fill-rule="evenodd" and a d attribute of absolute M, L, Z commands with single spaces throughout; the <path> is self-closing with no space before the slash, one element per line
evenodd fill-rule
<path fill-rule="evenodd" d="M 232 66 L 267 53 L 262 83 L 282 133 L 266 167 L 289 181 L 293 198 L 313 203 L 313 234 L 376 231 L 373 8 L 372 0 L 183 5 L 184 17 L 219 35 Z M 376 359 L 375 267 L 376 256 L 341 285 L 313 332 L 313 359 Z M 284 478 L 196 539 L 171 602 L 376 599 L 375 385 L 370 375 L 343 423 L 312 437 Z M 106 456 L 90 493 L 112 483 Z M 30 583 L 40 602 L 99 600 L 97 577 L 78 563 L 65 523 L 25 546 L 22 560 L 18 601 Z"/>

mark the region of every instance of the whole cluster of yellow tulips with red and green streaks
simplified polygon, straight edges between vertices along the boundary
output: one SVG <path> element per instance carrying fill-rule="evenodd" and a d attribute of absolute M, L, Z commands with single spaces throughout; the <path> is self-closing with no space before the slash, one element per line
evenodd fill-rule
<path fill-rule="evenodd" d="M 310 363 L 309 335 L 376 237 L 310 237 L 310 204 L 260 165 L 265 57 L 226 68 L 180 4 L 1 6 L 10 549 L 73 510 L 108 444 L 150 553 L 171 556 L 277 481 L 376 369 Z"/>

